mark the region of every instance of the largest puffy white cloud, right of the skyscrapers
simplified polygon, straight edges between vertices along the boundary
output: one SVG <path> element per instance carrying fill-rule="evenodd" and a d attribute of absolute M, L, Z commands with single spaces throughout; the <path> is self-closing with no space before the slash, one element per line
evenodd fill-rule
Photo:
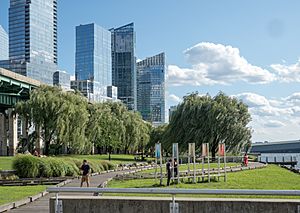
<path fill-rule="evenodd" d="M 168 67 L 170 85 L 231 84 L 243 81 L 252 84 L 270 83 L 276 76 L 254 66 L 240 55 L 238 48 L 208 42 L 184 51 L 191 68 Z"/>

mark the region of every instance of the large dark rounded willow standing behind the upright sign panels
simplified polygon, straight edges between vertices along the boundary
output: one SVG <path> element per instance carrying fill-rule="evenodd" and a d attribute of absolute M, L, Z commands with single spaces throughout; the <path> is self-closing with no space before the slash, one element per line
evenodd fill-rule
<path fill-rule="evenodd" d="M 220 92 L 215 97 L 193 93 L 184 97 L 172 115 L 163 135 L 163 142 L 170 149 L 178 143 L 186 150 L 188 143 L 210 144 L 214 158 L 218 143 L 225 143 L 227 151 L 239 152 L 250 144 L 251 121 L 248 107 L 236 98 Z"/>

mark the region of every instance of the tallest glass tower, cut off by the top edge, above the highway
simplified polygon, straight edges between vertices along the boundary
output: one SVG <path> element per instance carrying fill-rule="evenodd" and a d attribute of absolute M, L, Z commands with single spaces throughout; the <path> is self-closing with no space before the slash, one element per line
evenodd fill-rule
<path fill-rule="evenodd" d="M 9 69 L 53 84 L 57 70 L 57 0 L 10 0 Z"/>

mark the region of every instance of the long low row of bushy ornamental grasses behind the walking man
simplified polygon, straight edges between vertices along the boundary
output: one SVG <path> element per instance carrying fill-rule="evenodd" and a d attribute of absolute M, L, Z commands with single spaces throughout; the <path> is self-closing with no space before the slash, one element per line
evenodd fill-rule
<path fill-rule="evenodd" d="M 107 161 L 88 161 L 91 172 L 114 169 L 115 165 Z M 76 158 L 40 158 L 32 155 L 18 155 L 13 159 L 13 169 L 20 178 L 64 177 L 80 174 L 82 161 Z"/>

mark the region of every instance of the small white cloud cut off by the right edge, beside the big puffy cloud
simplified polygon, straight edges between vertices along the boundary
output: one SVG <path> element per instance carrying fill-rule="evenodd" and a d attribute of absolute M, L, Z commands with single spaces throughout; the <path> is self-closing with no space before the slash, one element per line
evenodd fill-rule
<path fill-rule="evenodd" d="M 291 65 L 272 64 L 272 69 L 281 82 L 300 82 L 300 59 Z"/>

